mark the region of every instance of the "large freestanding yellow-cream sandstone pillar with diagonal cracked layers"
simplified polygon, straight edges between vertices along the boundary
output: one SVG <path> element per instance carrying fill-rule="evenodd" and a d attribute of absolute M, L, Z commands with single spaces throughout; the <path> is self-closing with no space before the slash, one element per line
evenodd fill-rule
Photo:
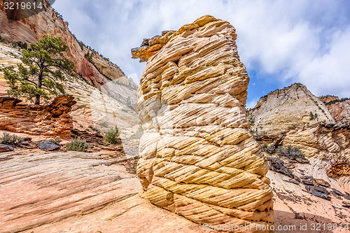
<path fill-rule="evenodd" d="M 132 50 L 147 61 L 136 109 L 144 127 L 141 197 L 199 224 L 273 222 L 267 161 L 245 117 L 249 79 L 236 37 L 229 22 L 206 15 Z"/>

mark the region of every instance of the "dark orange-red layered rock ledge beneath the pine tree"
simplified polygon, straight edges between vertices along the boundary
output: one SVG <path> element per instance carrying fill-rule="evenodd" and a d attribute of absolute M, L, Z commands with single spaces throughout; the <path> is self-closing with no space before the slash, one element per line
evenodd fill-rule
<path fill-rule="evenodd" d="M 48 106 L 19 105 L 12 97 L 0 97 L 0 129 L 43 136 L 71 136 L 73 122 L 69 116 L 74 98 L 62 95 Z"/>

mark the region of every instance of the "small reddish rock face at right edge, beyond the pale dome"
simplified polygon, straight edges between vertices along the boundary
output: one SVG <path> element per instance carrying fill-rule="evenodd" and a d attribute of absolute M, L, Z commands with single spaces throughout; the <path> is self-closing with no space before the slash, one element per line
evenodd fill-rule
<path fill-rule="evenodd" d="M 321 101 L 325 103 L 328 111 L 332 114 L 337 125 L 342 127 L 350 125 L 350 99 L 339 99 L 338 97 L 324 96 L 320 97 Z"/>

